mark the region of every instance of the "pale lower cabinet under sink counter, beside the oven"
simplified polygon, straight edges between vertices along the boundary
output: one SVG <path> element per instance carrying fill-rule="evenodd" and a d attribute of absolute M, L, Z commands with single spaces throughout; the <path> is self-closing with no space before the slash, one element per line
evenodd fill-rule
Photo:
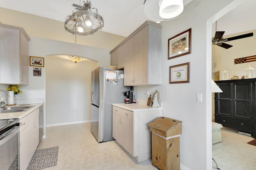
<path fill-rule="evenodd" d="M 20 170 L 26 170 L 39 144 L 39 108 L 20 119 Z"/>

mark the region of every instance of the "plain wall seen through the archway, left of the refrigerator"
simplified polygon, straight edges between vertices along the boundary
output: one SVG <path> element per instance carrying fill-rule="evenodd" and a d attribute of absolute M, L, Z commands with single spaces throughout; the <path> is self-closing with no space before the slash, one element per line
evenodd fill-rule
<path fill-rule="evenodd" d="M 91 72 L 97 63 L 74 63 L 67 56 L 46 59 L 46 124 L 90 122 Z"/>

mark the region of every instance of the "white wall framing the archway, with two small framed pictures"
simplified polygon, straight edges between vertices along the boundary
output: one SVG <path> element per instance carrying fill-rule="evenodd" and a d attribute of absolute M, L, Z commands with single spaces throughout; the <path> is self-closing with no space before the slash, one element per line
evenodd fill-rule
<path fill-rule="evenodd" d="M 44 39 L 33 36 L 30 36 L 30 39 L 29 55 L 44 57 L 45 66 L 42 67 L 42 76 L 33 76 L 33 66 L 29 67 L 29 85 L 21 87 L 21 90 L 23 90 L 24 92 L 24 97 L 17 97 L 17 99 L 44 99 L 44 102 L 46 103 L 44 105 L 45 113 L 47 108 L 46 69 L 48 68 L 48 66 L 46 65 L 46 63 L 48 63 L 48 57 L 46 56 L 76 55 L 97 62 L 97 66 L 110 65 L 110 50 L 107 49 L 101 49 L 97 47 L 90 47 L 74 43 L 66 43 L 63 41 Z M 65 89 L 63 89 L 63 91 L 64 90 Z M 65 95 L 63 94 L 63 97 L 64 96 Z M 46 113 L 46 117 L 48 117 L 48 113 Z M 87 117 L 84 117 L 84 119 L 87 119 Z M 58 119 L 53 119 L 50 123 L 55 124 L 59 122 Z"/>

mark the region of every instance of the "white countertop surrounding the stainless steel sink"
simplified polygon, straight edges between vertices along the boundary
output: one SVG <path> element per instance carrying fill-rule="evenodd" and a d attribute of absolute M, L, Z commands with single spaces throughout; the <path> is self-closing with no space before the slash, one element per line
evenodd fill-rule
<path fill-rule="evenodd" d="M 0 120 L 2 120 L 2 119 L 15 119 L 15 118 L 22 119 L 23 117 L 25 117 L 26 115 L 28 115 L 32 111 L 38 109 L 42 105 L 44 105 L 44 103 L 31 103 L 29 105 L 23 105 L 23 106 L 35 106 L 35 107 L 29 109 L 28 111 L 0 113 Z M 19 106 L 19 105 L 17 104 L 17 105 L 14 105 L 14 106 L 6 106 L 6 107 L 15 107 L 15 106 Z"/>

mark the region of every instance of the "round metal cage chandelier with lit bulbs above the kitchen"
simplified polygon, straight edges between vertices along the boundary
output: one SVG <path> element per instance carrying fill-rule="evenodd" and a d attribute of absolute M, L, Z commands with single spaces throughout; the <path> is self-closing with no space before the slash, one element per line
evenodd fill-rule
<path fill-rule="evenodd" d="M 80 8 L 75 8 L 71 16 L 66 17 L 64 27 L 68 32 L 75 35 L 90 35 L 104 26 L 102 16 L 98 14 L 97 8 L 91 8 L 90 1 L 87 0 L 82 7 L 78 7 Z M 91 11 L 94 9 L 96 12 Z"/>

